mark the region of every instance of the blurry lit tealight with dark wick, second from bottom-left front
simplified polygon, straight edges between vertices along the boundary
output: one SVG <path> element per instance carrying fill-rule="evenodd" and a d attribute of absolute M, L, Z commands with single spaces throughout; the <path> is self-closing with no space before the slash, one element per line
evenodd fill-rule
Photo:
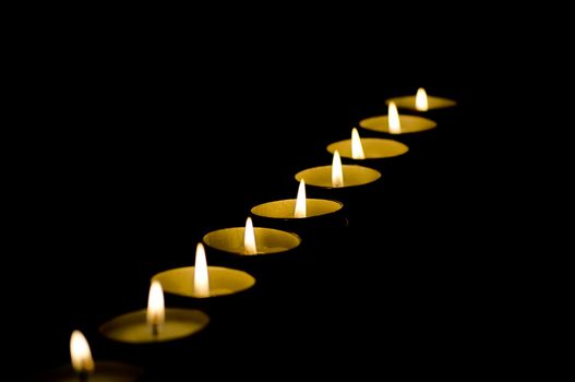
<path fill-rule="evenodd" d="M 158 343 L 190 336 L 209 322 L 207 314 L 195 309 L 164 307 L 164 291 L 158 280 L 149 287 L 147 310 L 117 317 L 99 327 L 106 337 L 123 343 Z"/>

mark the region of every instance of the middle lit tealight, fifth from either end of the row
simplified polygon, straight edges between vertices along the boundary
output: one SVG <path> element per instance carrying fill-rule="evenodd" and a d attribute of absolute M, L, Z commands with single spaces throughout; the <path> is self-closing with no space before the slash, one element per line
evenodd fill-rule
<path fill-rule="evenodd" d="M 299 234 L 316 234 L 319 230 L 345 227 L 347 219 L 342 210 L 344 203 L 327 199 L 308 199 L 306 181 L 300 180 L 296 199 L 285 199 L 252 207 L 255 219 L 271 226 L 279 226 Z"/>

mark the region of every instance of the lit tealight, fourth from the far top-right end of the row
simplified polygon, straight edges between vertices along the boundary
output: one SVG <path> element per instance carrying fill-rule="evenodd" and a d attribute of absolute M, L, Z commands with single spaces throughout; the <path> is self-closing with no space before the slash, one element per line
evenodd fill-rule
<path fill-rule="evenodd" d="M 304 169 L 296 174 L 296 179 L 302 179 L 307 184 L 324 189 L 349 188 L 374 182 L 380 179 L 381 172 L 373 168 L 342 165 L 337 150 L 334 151 L 332 166 L 320 166 Z"/>

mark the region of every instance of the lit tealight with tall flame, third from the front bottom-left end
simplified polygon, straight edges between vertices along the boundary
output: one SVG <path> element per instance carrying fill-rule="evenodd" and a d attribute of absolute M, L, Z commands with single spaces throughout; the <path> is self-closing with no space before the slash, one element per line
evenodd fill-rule
<path fill-rule="evenodd" d="M 205 248 L 201 242 L 195 249 L 194 266 L 160 272 L 152 280 L 160 282 L 166 293 L 192 298 L 232 295 L 255 284 L 255 278 L 243 271 L 207 266 Z"/>

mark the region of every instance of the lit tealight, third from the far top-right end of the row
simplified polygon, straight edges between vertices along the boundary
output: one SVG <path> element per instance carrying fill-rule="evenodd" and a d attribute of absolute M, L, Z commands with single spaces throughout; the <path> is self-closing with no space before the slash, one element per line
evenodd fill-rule
<path fill-rule="evenodd" d="M 336 151 L 345 158 L 357 160 L 391 158 L 408 152 L 407 145 L 394 140 L 360 138 L 358 129 L 351 130 L 351 140 L 338 141 L 327 145 L 327 151 Z"/>

